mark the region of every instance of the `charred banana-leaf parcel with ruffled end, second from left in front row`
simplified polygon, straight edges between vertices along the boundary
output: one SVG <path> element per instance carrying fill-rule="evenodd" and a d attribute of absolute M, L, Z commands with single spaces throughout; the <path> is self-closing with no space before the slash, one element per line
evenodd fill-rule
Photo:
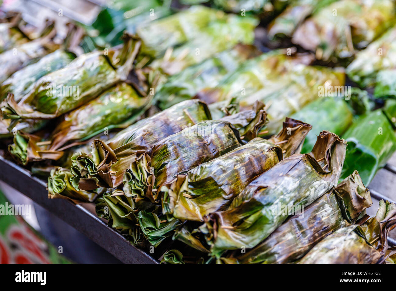
<path fill-rule="evenodd" d="M 261 128 L 261 127 L 259 127 Z M 161 186 L 202 163 L 242 145 L 239 131 L 229 122 L 202 121 L 139 151 L 124 175 L 124 191 L 158 202 Z M 156 192 L 156 193 L 155 193 Z"/>

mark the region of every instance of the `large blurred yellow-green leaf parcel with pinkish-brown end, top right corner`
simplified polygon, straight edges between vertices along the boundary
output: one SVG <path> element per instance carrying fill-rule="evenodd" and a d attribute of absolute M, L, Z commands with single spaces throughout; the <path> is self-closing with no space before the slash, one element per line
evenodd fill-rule
<path fill-rule="evenodd" d="M 394 11 L 391 0 L 336 1 L 304 21 L 292 42 L 314 51 L 317 59 L 346 59 L 394 25 Z"/>

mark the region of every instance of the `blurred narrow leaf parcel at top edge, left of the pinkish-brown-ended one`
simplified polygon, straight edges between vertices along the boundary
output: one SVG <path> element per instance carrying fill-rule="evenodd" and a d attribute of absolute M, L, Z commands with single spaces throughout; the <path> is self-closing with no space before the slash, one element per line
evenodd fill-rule
<path fill-rule="evenodd" d="M 276 17 L 268 27 L 268 38 L 291 37 L 309 15 L 335 2 L 335 0 L 295 0 Z"/>

